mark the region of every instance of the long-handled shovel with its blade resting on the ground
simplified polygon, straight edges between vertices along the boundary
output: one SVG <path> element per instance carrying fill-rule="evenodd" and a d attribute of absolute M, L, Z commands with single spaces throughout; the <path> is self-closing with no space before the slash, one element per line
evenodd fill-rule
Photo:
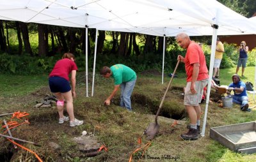
<path fill-rule="evenodd" d="M 172 79 L 173 79 L 173 77 L 174 77 L 174 75 L 175 75 L 175 72 L 176 72 L 178 66 L 179 66 L 179 63 L 180 63 L 180 60 L 177 62 L 176 67 L 175 67 L 175 70 L 173 71 L 172 78 L 171 78 L 171 80 L 170 80 L 170 82 L 169 82 L 169 84 L 168 84 L 168 86 L 167 86 L 167 88 L 166 88 L 166 91 L 164 92 L 163 99 L 162 99 L 162 101 L 161 101 L 161 103 L 160 103 L 160 105 L 159 105 L 159 108 L 158 108 L 158 110 L 157 110 L 157 113 L 156 113 L 156 118 L 155 118 L 155 121 L 156 121 L 156 122 L 151 122 L 151 123 L 149 124 L 148 128 L 144 131 L 144 134 L 148 136 L 148 137 L 147 137 L 148 140 L 152 140 L 152 139 L 156 136 L 156 134 L 158 133 L 158 131 L 159 131 L 159 127 L 160 127 L 160 126 L 159 126 L 159 124 L 157 123 L 157 117 L 158 117 L 159 112 L 160 112 L 160 110 L 161 110 L 161 108 L 162 108 L 162 106 L 163 106 L 165 96 L 166 96 L 166 94 L 167 94 L 167 92 L 168 92 L 168 90 L 169 90 L 169 88 L 170 88 L 170 85 L 172 84 Z"/>

